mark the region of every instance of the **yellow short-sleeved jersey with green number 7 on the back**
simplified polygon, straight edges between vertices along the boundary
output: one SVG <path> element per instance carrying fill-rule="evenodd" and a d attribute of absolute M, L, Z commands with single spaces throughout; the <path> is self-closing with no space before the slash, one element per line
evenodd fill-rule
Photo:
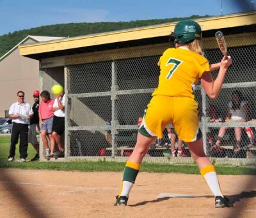
<path fill-rule="evenodd" d="M 152 96 L 186 96 L 195 99 L 194 87 L 205 71 L 207 59 L 184 47 L 168 48 L 160 57 L 159 84 Z"/>

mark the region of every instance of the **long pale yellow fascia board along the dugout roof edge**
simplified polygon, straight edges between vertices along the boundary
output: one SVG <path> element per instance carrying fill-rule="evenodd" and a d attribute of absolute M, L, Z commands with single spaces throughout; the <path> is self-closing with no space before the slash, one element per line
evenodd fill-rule
<path fill-rule="evenodd" d="M 204 18 L 198 19 L 196 21 L 201 25 L 203 31 L 228 27 L 238 27 L 243 25 L 256 24 L 256 12 L 253 11 L 250 13 L 239 13 L 222 17 Z M 45 52 L 68 50 L 72 48 L 89 47 L 109 43 L 118 43 L 122 41 L 142 40 L 145 38 L 167 36 L 171 31 L 173 31 L 175 24 L 176 23 L 161 24 L 136 29 L 127 29 L 124 31 L 77 36 L 64 40 L 48 41 L 44 43 L 20 45 L 20 55 L 40 54 Z"/>

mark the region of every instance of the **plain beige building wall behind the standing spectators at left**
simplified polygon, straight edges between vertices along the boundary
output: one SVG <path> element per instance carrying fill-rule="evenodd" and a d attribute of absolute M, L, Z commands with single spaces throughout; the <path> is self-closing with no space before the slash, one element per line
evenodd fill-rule
<path fill-rule="evenodd" d="M 25 92 L 25 101 L 33 104 L 33 91 L 40 89 L 39 61 L 22 57 L 16 49 L 0 62 L 0 117 L 17 101 L 17 91 Z"/>

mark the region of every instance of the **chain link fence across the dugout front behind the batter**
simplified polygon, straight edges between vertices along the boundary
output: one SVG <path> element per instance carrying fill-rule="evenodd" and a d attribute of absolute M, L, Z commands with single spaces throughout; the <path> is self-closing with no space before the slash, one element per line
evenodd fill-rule
<path fill-rule="evenodd" d="M 227 37 L 233 64 L 218 99 L 212 101 L 200 85 L 196 88 L 204 149 L 218 163 L 255 163 L 255 38 L 255 34 Z M 215 39 L 205 39 L 204 45 L 209 62 L 220 62 Z M 131 155 L 138 124 L 157 87 L 157 62 L 168 47 L 164 43 L 66 57 L 67 159 L 104 157 L 125 161 Z M 212 72 L 214 78 L 217 75 L 218 71 Z M 193 163 L 185 143 L 179 142 L 170 128 L 164 129 L 163 139 L 152 143 L 144 160 Z"/>

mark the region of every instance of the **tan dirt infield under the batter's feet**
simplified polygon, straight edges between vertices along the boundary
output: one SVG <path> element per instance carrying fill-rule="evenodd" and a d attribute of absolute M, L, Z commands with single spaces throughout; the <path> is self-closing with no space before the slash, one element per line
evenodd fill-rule
<path fill-rule="evenodd" d="M 0 217 L 256 217 L 256 176 L 219 178 L 234 208 L 214 208 L 200 175 L 139 173 L 115 207 L 122 173 L 0 169 Z"/>

